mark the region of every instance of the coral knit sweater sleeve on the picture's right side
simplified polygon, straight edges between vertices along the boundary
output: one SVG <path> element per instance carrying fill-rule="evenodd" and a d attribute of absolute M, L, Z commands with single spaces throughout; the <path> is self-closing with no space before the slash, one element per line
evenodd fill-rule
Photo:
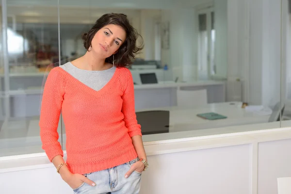
<path fill-rule="evenodd" d="M 135 108 L 134 108 L 134 85 L 131 72 L 127 69 L 125 89 L 122 96 L 122 113 L 124 114 L 125 126 L 128 129 L 130 137 L 142 135 L 141 126 L 137 123 Z"/>

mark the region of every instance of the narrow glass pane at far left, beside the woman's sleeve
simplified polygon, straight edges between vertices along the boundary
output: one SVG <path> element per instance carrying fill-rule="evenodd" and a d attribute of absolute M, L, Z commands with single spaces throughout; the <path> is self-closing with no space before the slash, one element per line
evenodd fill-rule
<path fill-rule="evenodd" d="M 46 76 L 58 61 L 57 1 L 7 0 L 6 11 L 8 71 L 1 65 L 0 79 L 8 112 L 1 106 L 0 156 L 43 152 L 38 122 Z"/>

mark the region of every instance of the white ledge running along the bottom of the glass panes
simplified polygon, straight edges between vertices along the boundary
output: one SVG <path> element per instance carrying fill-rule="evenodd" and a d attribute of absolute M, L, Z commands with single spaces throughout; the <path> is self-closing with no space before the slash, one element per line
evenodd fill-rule
<path fill-rule="evenodd" d="M 285 125 L 287 125 L 287 122 L 291 126 L 291 121 L 286 121 Z M 288 136 L 283 138 L 282 135 L 286 134 Z M 246 142 L 252 142 L 254 137 L 264 137 L 268 140 L 291 138 L 291 127 L 280 128 L 279 122 L 273 122 L 216 129 L 188 130 L 144 135 L 143 141 L 147 156 L 151 156 L 209 147 L 221 147 L 226 146 L 226 144 L 241 145 Z M 225 140 L 232 139 L 236 141 L 224 142 Z M 64 153 L 66 154 L 65 151 Z M 32 169 L 34 165 L 37 165 L 37 167 L 44 167 L 44 165 L 50 167 L 52 163 L 49 162 L 45 153 L 0 157 L 0 173 Z"/>

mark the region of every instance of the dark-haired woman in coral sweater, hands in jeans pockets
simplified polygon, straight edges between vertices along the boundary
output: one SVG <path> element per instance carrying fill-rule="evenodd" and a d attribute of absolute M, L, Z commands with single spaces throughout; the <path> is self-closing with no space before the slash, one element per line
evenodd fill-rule
<path fill-rule="evenodd" d="M 125 68 L 142 49 L 126 15 L 105 14 L 83 34 L 87 52 L 53 68 L 40 114 L 43 149 L 77 194 L 138 194 L 147 168 L 134 110 L 133 80 Z M 67 160 L 58 142 L 60 112 Z"/>

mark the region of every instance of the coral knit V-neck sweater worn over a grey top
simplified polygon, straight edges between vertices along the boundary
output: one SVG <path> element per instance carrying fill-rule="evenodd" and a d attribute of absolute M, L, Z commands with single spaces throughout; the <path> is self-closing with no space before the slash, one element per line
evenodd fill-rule
<path fill-rule="evenodd" d="M 50 161 L 57 155 L 64 156 L 57 132 L 61 110 L 66 162 L 72 173 L 104 170 L 137 157 L 131 137 L 142 133 L 136 120 L 129 69 L 116 68 L 112 79 L 98 91 L 61 67 L 50 71 L 39 121 L 42 148 Z"/>

